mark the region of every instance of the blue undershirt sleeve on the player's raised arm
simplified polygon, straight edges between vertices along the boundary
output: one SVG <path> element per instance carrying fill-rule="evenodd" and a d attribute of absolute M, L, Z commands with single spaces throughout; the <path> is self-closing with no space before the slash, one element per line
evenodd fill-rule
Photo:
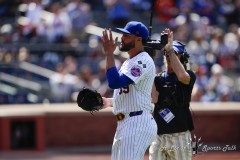
<path fill-rule="evenodd" d="M 108 86 L 112 89 L 128 86 L 134 83 L 128 76 L 119 74 L 116 67 L 111 67 L 107 70 Z"/>

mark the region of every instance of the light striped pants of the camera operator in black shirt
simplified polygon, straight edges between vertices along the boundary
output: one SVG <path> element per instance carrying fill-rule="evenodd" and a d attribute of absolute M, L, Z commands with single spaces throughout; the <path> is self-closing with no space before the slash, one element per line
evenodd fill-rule
<path fill-rule="evenodd" d="M 149 149 L 149 160 L 191 160 L 190 131 L 158 135 Z"/>

